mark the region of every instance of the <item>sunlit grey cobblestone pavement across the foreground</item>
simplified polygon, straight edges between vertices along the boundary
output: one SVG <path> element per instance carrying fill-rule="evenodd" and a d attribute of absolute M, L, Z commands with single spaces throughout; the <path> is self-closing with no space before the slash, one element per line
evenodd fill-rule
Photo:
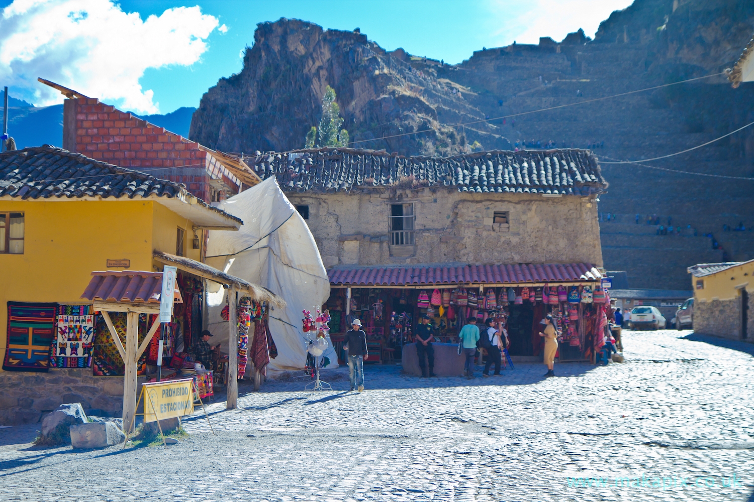
<path fill-rule="evenodd" d="M 0 429 L 0 500 L 754 501 L 754 345 L 624 331 L 627 362 L 501 378 L 366 366 L 366 391 L 242 387 L 168 449 L 34 449 Z M 477 369 L 477 375 L 479 375 Z M 38 427 L 36 427 L 38 428 Z"/>

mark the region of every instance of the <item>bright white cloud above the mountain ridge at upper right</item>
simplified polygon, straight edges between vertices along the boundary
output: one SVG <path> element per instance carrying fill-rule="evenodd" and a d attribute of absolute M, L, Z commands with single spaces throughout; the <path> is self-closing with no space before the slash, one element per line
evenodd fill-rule
<path fill-rule="evenodd" d="M 633 0 L 534 0 L 523 4 L 514 0 L 490 0 L 492 19 L 499 28 L 499 45 L 515 40 L 519 44 L 538 44 L 540 37 L 561 41 L 571 32 L 584 29 L 594 38 L 599 23 L 613 11 L 627 8 Z M 525 6 L 524 6 L 525 5 Z"/>

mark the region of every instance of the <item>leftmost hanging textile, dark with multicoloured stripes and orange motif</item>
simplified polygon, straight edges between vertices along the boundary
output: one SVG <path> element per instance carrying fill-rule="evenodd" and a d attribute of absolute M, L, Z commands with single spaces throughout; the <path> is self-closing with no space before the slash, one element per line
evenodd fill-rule
<path fill-rule="evenodd" d="M 3 370 L 48 372 L 56 312 L 57 303 L 8 302 Z"/>

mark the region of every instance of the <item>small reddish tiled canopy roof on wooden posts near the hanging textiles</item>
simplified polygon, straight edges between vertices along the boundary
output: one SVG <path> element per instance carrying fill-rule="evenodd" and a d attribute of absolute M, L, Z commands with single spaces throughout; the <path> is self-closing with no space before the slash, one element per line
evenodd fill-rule
<path fill-rule="evenodd" d="M 81 298 L 90 301 L 160 303 L 161 291 L 162 272 L 112 270 L 92 272 Z"/>

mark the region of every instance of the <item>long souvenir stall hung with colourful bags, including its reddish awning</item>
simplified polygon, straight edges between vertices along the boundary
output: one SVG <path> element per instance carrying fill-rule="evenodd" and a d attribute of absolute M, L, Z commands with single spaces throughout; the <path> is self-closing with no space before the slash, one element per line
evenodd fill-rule
<path fill-rule="evenodd" d="M 366 331 L 369 358 L 401 359 L 428 315 L 437 342 L 458 342 L 468 318 L 492 318 L 508 334 L 511 356 L 539 357 L 541 318 L 553 314 L 561 361 L 593 359 L 604 345 L 609 297 L 602 273 L 588 263 L 458 267 L 359 267 L 329 272 L 332 294 L 323 308 L 339 359 L 342 336 L 354 318 Z"/>

